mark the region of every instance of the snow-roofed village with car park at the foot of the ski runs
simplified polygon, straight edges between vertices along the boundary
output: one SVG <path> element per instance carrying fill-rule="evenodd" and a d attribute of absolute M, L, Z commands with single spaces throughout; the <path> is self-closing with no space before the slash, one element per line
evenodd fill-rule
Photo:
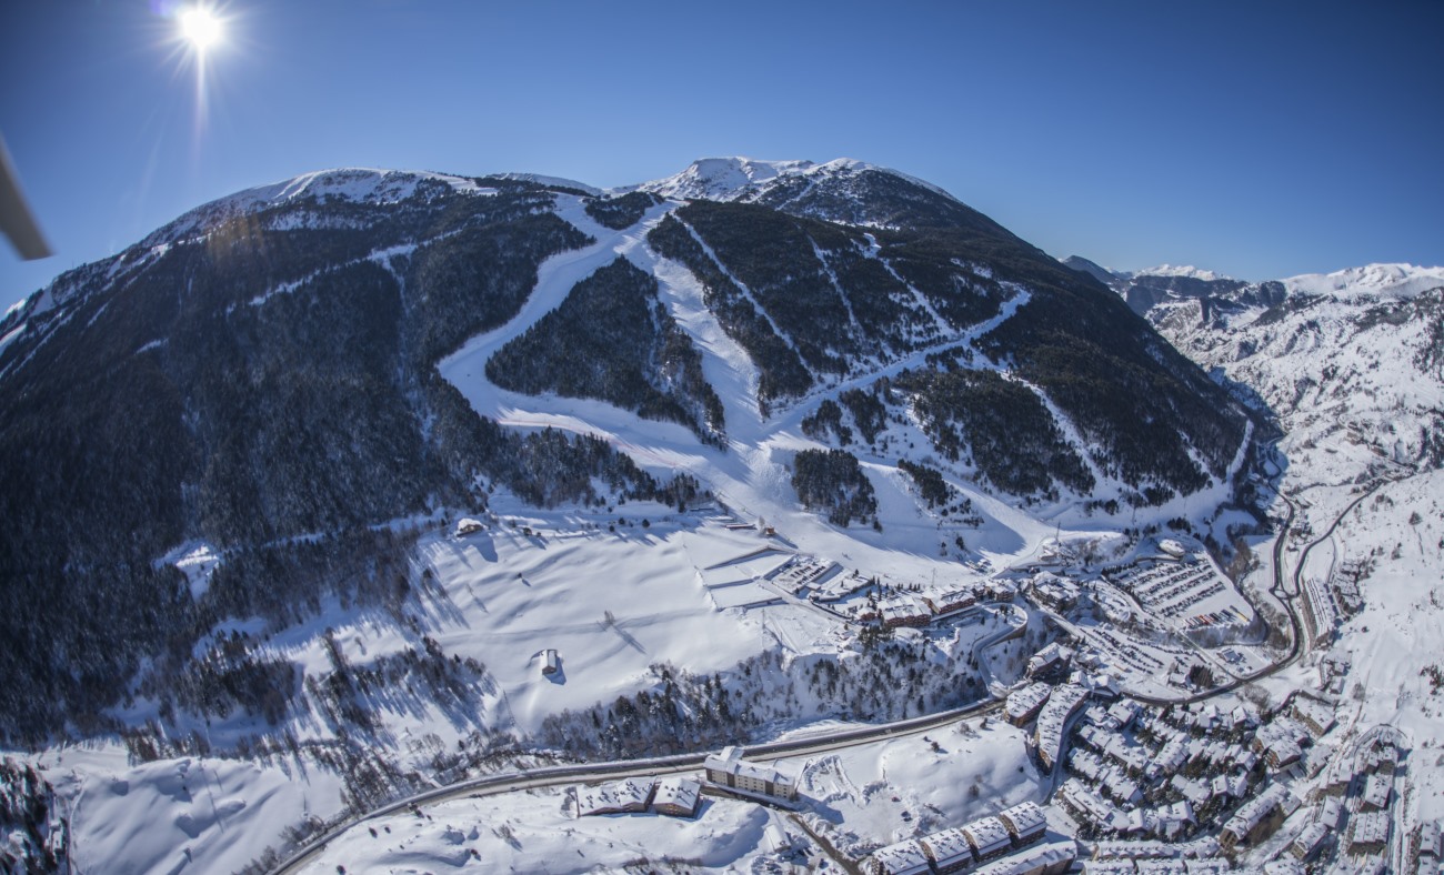
<path fill-rule="evenodd" d="M 1383 872 L 1396 846 L 1412 849 L 1419 871 L 1434 871 L 1438 824 L 1395 835 L 1406 741 L 1386 728 L 1353 738 L 1340 722 L 1346 666 L 1320 661 L 1317 683 L 1276 705 L 1207 696 L 1269 664 L 1259 618 L 1206 553 L 1173 539 L 1092 575 L 1054 556 L 924 585 L 768 543 L 702 578 L 709 593 L 749 588 L 745 601 L 723 598 L 719 609 L 806 602 L 849 628 L 924 637 L 992 625 L 973 640 L 973 656 L 999 716 L 1027 732 L 1045 797 L 884 842 L 839 861 L 849 871 L 1292 874 L 1344 861 Z M 1031 656 L 988 658 L 989 648 L 1035 641 L 1024 632 L 1040 624 L 1047 644 Z M 706 796 L 809 810 L 786 764 L 748 761 L 736 746 L 710 755 L 697 777 L 578 787 L 573 804 L 578 817 L 696 817 Z M 829 859 L 800 856 L 809 843 L 786 829 L 771 835 L 780 861 Z"/>

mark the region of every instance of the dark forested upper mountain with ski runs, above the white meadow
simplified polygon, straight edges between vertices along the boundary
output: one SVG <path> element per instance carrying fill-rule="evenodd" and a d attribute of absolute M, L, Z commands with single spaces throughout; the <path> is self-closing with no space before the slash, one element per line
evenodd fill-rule
<path fill-rule="evenodd" d="M 118 697 L 166 687 L 227 617 L 280 628 L 322 596 L 391 599 L 357 575 L 404 565 L 410 536 L 375 533 L 495 494 L 725 492 L 884 539 L 868 502 L 813 504 L 856 497 L 817 476 L 913 501 L 887 491 L 901 456 L 972 507 L 1119 526 L 1232 492 L 1243 409 L 1102 283 L 901 173 L 751 170 L 738 196 L 687 201 L 309 173 L 189 211 L 7 313 L 0 663 L 26 680 L 0 693 L 0 732 L 113 725 Z M 514 342 L 456 358 L 482 336 Z M 799 488 L 784 472 L 809 449 L 858 463 Z M 960 559 L 988 544 L 975 518 L 939 523 Z M 198 591 L 159 562 L 191 541 L 228 557 Z M 56 621 L 46 643 L 36 592 L 108 622 Z"/>

